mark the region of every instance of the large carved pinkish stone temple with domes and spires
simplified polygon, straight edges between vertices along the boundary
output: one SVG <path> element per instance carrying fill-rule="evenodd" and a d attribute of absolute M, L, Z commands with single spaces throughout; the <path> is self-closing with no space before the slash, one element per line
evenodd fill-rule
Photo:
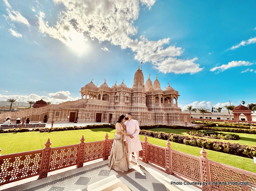
<path fill-rule="evenodd" d="M 115 123 L 119 115 L 131 113 L 140 124 L 191 124 L 190 114 L 182 113 L 177 100 L 179 92 L 168 83 L 163 91 L 157 79 L 149 78 L 144 85 L 142 70 L 134 75 L 133 87 L 123 82 L 111 88 L 104 83 L 97 87 L 92 81 L 81 88 L 76 104 L 49 111 L 48 122 L 106 122 Z M 74 101 L 75 102 L 75 101 Z"/>

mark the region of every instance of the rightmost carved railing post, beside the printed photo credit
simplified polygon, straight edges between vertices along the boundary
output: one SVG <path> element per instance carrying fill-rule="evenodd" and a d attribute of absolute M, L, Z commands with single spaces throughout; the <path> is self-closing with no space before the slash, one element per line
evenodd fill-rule
<path fill-rule="evenodd" d="M 207 153 L 204 150 L 204 147 L 202 147 L 202 150 L 200 151 L 201 157 L 200 157 L 200 174 L 201 174 L 201 182 L 206 182 L 207 185 L 202 185 L 203 191 L 211 191 L 211 185 L 209 185 L 209 182 L 211 182 L 211 176 L 210 176 L 210 164 L 209 164 L 209 158 L 206 157 Z"/>

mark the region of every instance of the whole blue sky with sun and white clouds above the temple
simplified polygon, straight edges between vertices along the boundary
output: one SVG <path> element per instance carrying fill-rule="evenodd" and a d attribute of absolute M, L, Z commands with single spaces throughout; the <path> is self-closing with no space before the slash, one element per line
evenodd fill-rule
<path fill-rule="evenodd" d="M 142 64 L 178 106 L 256 103 L 256 1 L 0 0 L 0 101 L 131 88 Z M 229 102 L 230 101 L 230 102 Z"/>

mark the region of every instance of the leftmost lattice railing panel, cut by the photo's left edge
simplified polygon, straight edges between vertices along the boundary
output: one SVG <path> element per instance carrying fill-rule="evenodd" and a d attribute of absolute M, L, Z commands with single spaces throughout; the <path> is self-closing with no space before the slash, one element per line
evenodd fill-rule
<path fill-rule="evenodd" d="M 1 156 L 0 159 L 0 185 L 15 179 L 39 174 L 42 151 L 30 151 L 24 153 Z"/>

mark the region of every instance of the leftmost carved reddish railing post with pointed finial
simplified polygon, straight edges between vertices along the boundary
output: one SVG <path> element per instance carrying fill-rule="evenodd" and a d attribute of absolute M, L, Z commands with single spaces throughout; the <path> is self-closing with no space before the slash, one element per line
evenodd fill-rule
<path fill-rule="evenodd" d="M 41 159 L 41 164 L 40 164 L 40 169 L 39 169 L 39 177 L 37 179 L 47 177 L 50 159 L 51 159 L 51 153 L 52 153 L 52 147 L 50 147 L 51 144 L 52 143 L 50 141 L 50 138 L 48 138 L 47 142 L 45 143 L 45 148 L 42 153 L 42 159 Z"/>

